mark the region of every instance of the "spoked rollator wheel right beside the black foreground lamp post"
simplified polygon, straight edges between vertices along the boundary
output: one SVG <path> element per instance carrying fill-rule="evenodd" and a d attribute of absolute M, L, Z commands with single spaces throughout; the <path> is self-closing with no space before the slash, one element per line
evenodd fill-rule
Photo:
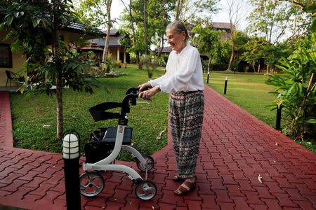
<path fill-rule="evenodd" d="M 86 197 L 93 197 L 102 192 L 104 179 L 98 172 L 86 172 L 80 176 L 80 193 Z"/>

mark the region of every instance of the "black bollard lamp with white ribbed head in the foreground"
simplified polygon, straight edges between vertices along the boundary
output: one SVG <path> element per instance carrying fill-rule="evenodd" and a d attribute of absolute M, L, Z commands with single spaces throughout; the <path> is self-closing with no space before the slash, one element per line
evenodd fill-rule
<path fill-rule="evenodd" d="M 78 137 L 73 134 L 76 133 Z M 65 132 L 62 138 L 62 159 L 64 160 L 67 209 L 81 209 L 79 158 L 80 138 L 74 130 Z"/>

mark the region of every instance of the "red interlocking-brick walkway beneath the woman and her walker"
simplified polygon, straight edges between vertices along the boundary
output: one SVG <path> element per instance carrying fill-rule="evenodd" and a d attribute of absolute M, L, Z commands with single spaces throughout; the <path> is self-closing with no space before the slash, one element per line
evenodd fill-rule
<path fill-rule="evenodd" d="M 105 189 L 81 196 L 82 209 L 316 209 L 316 155 L 209 87 L 205 96 L 196 190 L 173 195 L 178 183 L 171 181 L 176 160 L 169 135 L 169 146 L 153 155 L 149 177 L 158 193 L 152 200 L 138 200 L 126 174 L 104 172 Z M 65 209 L 61 155 L 12 147 L 7 97 L 0 93 L 0 204 Z"/>

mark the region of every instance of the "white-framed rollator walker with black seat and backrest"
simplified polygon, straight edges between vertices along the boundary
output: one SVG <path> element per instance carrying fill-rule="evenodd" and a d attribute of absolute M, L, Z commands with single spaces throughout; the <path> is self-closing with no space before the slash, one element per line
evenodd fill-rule
<path fill-rule="evenodd" d="M 99 172 L 125 172 L 129 178 L 136 183 L 135 193 L 140 200 L 150 200 L 157 193 L 154 182 L 147 180 L 147 172 L 154 167 L 154 159 L 150 155 L 141 155 L 131 145 L 132 127 L 127 127 L 127 113 L 131 105 L 136 103 L 139 87 L 131 87 L 121 103 L 105 102 L 89 109 L 95 121 L 118 118 L 117 127 L 101 127 L 100 130 L 91 134 L 91 139 L 84 149 L 86 162 L 84 162 L 84 174 L 80 176 L 80 193 L 86 197 L 94 197 L 102 192 L 105 181 Z M 121 113 L 105 112 L 108 109 L 121 108 Z M 128 151 L 136 158 L 136 165 L 140 171 L 145 172 L 145 179 L 131 167 L 113 164 L 119 152 Z M 112 151 L 112 153 L 110 152 Z M 90 171 L 90 172 L 87 172 Z M 91 172 L 93 171 L 93 172 Z"/>

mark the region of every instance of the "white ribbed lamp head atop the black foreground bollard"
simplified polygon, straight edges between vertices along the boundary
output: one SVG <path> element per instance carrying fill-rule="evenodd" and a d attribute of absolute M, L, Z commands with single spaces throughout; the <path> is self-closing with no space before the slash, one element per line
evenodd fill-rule
<path fill-rule="evenodd" d="M 79 139 L 74 134 L 67 134 L 62 139 L 62 158 L 79 158 Z"/>

